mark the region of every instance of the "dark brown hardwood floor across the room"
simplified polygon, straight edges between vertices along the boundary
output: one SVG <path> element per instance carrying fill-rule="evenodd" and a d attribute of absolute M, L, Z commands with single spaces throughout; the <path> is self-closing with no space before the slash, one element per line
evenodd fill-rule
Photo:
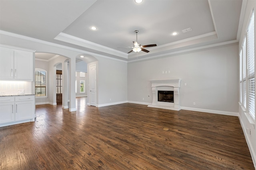
<path fill-rule="evenodd" d="M 0 169 L 254 169 L 238 117 L 85 104 L 38 105 L 35 122 L 0 127 Z"/>

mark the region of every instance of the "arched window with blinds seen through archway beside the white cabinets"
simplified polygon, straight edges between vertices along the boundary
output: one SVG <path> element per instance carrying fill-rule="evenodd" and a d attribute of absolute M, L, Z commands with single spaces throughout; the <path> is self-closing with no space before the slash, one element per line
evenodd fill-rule
<path fill-rule="evenodd" d="M 47 71 L 35 69 L 35 96 L 36 98 L 47 97 Z"/>

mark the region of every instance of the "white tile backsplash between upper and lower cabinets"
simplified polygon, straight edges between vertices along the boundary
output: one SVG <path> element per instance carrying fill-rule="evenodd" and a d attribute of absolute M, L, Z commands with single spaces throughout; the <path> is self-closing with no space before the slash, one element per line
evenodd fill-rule
<path fill-rule="evenodd" d="M 32 82 L 0 81 L 0 96 L 32 94 Z"/>

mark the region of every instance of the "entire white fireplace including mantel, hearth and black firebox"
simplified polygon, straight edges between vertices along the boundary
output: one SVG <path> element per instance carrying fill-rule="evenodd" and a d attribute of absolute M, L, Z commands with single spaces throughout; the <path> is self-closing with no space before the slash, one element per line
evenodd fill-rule
<path fill-rule="evenodd" d="M 180 81 L 150 80 L 152 87 L 152 104 L 148 107 L 156 107 L 169 110 L 180 110 Z"/>

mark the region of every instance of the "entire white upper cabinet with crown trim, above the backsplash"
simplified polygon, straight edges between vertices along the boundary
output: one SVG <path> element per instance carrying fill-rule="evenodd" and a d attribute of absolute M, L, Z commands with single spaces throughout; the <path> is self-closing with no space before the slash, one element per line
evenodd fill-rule
<path fill-rule="evenodd" d="M 33 81 L 33 53 L 0 45 L 0 80 Z"/>

